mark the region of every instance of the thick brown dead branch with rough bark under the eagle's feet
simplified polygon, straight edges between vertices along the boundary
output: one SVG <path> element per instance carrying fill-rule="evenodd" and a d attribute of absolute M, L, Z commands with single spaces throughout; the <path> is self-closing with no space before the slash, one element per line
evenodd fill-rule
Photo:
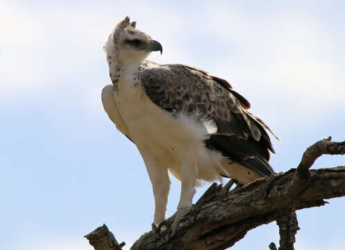
<path fill-rule="evenodd" d="M 306 150 L 297 169 L 241 188 L 229 191 L 233 181 L 224 187 L 213 183 L 195 203 L 195 209 L 182 218 L 175 234 L 170 229 L 175 218 L 172 215 L 164 222 L 165 230 L 145 233 L 131 249 L 227 249 L 252 228 L 274 221 L 281 236 L 279 249 L 294 249 L 294 235 L 299 229 L 294 211 L 323 206 L 324 199 L 345 196 L 345 166 L 309 171 L 324 153 L 344 154 L 345 142 L 321 140 Z M 274 243 L 269 249 L 276 249 Z"/>

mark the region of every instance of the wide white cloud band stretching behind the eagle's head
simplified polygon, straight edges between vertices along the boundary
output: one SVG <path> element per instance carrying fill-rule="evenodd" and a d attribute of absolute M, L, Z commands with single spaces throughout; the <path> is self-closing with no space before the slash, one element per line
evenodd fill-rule
<path fill-rule="evenodd" d="M 293 8 L 278 8 L 253 15 L 226 2 L 204 3 L 198 15 L 186 18 L 185 12 L 150 2 L 122 6 L 103 2 L 94 7 L 103 12 L 89 3 L 82 8 L 78 4 L 39 8 L 44 15 L 37 14 L 42 10 L 27 11 L 10 3 L 0 10 L 6 34 L 0 48 L 5 65 L 0 67 L 3 100 L 13 94 L 74 88 L 84 97 L 85 108 L 99 110 L 94 108 L 99 92 L 109 83 L 101 47 L 114 25 L 130 14 L 139 29 L 163 44 L 163 55 L 152 53 L 151 60 L 186 63 L 232 79 L 233 87 L 251 103 L 260 102 L 263 110 L 278 100 L 281 108 L 290 106 L 294 113 L 322 111 L 327 107 L 320 101 L 326 99 L 325 93 L 331 95 L 334 107 L 344 105 L 344 61 L 328 53 L 332 44 L 325 38 L 338 31 L 316 30 L 322 27 L 319 20 L 302 10 L 296 14 Z M 148 18 L 153 15 L 155 21 Z"/>

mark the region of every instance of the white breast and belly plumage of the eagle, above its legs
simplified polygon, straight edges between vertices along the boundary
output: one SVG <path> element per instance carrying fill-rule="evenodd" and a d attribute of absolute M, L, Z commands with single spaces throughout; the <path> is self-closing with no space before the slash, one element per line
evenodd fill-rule
<path fill-rule="evenodd" d="M 202 181 L 215 181 L 220 174 L 231 176 L 240 183 L 248 183 L 260 177 L 236 163 L 224 158 L 221 153 L 207 149 L 203 140 L 209 136 L 206 124 L 196 122 L 195 117 L 173 117 L 166 110 L 152 103 L 140 84 L 119 81 L 119 91 L 114 92 L 116 108 L 121 116 L 116 126 L 134 141 L 141 155 L 153 157 L 161 167 L 181 180 L 181 156 L 193 156 L 197 167 L 196 186 Z M 118 124 L 118 123 L 124 124 Z M 145 158 L 144 158 L 145 160 Z M 192 167 L 192 166 L 191 166 Z"/>

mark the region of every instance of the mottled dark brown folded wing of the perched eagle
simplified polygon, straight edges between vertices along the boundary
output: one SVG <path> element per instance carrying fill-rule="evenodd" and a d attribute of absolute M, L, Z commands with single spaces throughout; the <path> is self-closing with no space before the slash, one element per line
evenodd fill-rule
<path fill-rule="evenodd" d="M 227 81 L 186 65 L 143 68 L 140 77 L 143 90 L 160 108 L 215 122 L 218 131 L 205 140 L 206 147 L 259 174 L 273 172 L 267 162 L 268 150 L 274 149 L 262 121 L 247 113 L 249 102 Z"/>

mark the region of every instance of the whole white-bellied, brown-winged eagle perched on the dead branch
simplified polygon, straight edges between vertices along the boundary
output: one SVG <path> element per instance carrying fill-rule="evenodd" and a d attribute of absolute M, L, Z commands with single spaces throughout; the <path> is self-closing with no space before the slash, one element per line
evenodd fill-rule
<path fill-rule="evenodd" d="M 227 81 L 196 67 L 145 60 L 162 46 L 129 17 L 103 48 L 112 80 L 103 88 L 103 107 L 141 153 L 154 194 L 152 226 L 166 219 L 168 172 L 182 185 L 173 231 L 203 183 L 227 177 L 247 184 L 274 173 L 272 131 Z"/>

